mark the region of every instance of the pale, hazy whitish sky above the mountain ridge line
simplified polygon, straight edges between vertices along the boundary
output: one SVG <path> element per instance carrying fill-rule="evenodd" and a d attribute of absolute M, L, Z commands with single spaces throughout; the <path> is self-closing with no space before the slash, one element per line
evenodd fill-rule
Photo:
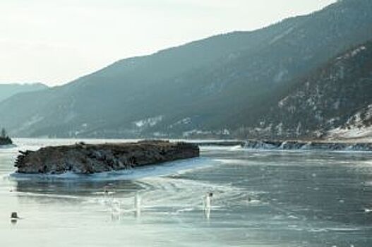
<path fill-rule="evenodd" d="M 68 83 L 119 59 L 254 30 L 332 2 L 0 0 L 0 83 Z"/>

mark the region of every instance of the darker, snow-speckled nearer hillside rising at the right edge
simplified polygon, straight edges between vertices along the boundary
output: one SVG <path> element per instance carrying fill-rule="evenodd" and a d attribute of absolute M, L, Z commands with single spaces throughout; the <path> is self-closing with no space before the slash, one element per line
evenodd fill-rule
<path fill-rule="evenodd" d="M 241 131 L 267 138 L 366 137 L 372 133 L 371 95 L 369 41 L 296 80 L 255 127 Z"/>

